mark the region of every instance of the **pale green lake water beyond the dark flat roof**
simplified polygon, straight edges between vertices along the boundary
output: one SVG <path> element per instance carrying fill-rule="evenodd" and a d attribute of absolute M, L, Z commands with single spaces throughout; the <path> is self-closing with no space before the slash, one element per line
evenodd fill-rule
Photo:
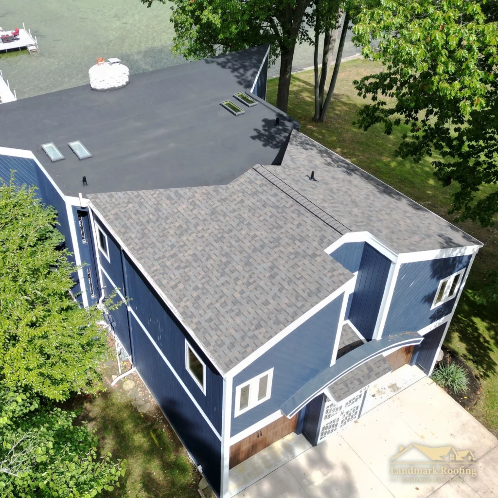
<path fill-rule="evenodd" d="M 169 3 L 146 8 L 139 0 L 0 0 L 0 26 L 24 22 L 40 47 L 35 55 L 0 54 L 0 69 L 21 99 L 88 83 L 97 57 L 118 57 L 131 74 L 181 64 L 170 50 L 170 15 Z M 344 57 L 356 52 L 348 40 Z M 313 48 L 298 46 L 293 70 L 312 65 Z M 278 64 L 269 74 L 278 75 Z"/>

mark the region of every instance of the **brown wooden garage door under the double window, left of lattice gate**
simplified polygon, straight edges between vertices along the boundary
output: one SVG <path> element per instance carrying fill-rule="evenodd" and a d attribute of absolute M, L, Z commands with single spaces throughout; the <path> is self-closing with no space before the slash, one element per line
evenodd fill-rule
<path fill-rule="evenodd" d="M 230 447 L 230 468 L 290 434 L 296 427 L 297 414 L 291 419 L 283 416 Z"/>

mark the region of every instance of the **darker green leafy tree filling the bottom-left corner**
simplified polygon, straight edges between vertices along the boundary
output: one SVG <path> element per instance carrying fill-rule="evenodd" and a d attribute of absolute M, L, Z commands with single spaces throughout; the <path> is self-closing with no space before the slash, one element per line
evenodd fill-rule
<path fill-rule="evenodd" d="M 0 496 L 87 498 L 119 487 L 126 461 L 99 457 L 75 417 L 0 381 Z"/>

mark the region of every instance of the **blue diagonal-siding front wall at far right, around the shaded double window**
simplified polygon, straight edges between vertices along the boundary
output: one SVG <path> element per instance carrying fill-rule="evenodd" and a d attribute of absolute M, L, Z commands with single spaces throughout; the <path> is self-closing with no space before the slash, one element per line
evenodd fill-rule
<path fill-rule="evenodd" d="M 468 255 L 401 264 L 382 334 L 417 331 L 449 315 L 456 297 L 431 310 L 439 282 L 470 260 Z"/>

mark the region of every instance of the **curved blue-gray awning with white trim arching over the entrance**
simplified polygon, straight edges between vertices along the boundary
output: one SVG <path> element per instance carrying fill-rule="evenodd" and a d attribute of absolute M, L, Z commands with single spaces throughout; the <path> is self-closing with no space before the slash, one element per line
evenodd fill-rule
<path fill-rule="evenodd" d="M 378 341 L 370 341 L 339 358 L 334 365 L 322 370 L 306 385 L 295 392 L 280 409 L 287 417 L 294 416 L 303 406 L 311 401 L 330 384 L 376 356 L 402 346 L 415 346 L 422 342 L 423 336 L 418 332 L 401 332 Z"/>

